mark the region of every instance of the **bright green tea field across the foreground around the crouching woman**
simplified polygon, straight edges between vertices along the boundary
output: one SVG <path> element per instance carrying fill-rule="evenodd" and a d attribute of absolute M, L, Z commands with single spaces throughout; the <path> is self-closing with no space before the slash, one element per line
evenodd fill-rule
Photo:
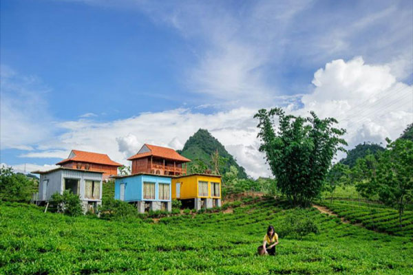
<path fill-rule="evenodd" d="M 277 255 L 256 256 L 270 223 Z M 0 274 L 413 274 L 413 243 L 273 200 L 158 223 L 0 203 Z"/>

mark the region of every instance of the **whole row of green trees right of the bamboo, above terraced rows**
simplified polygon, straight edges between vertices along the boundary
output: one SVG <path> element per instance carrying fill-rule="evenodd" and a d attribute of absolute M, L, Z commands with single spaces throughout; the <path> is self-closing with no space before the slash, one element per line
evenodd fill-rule
<path fill-rule="evenodd" d="M 337 186 L 354 185 L 366 199 L 379 199 L 396 208 L 399 222 L 406 206 L 413 201 L 413 142 L 387 140 L 385 151 L 357 159 L 354 166 L 335 164 L 326 177 L 326 190 L 332 195 Z"/>

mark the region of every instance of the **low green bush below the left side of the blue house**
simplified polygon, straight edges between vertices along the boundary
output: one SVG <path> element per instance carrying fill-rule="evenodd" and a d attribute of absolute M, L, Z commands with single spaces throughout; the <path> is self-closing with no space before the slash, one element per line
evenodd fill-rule
<path fill-rule="evenodd" d="M 119 199 L 103 199 L 98 212 L 103 219 L 129 219 L 138 217 L 138 210 L 126 201 Z"/>

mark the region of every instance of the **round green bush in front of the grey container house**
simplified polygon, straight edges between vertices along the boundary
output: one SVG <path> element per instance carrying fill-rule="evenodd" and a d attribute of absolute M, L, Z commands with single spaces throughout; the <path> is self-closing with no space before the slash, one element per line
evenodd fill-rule
<path fill-rule="evenodd" d="M 70 190 L 64 190 L 62 195 L 58 192 L 54 193 L 50 203 L 57 208 L 57 212 L 59 213 L 69 216 L 79 216 L 83 214 L 81 199 Z"/>

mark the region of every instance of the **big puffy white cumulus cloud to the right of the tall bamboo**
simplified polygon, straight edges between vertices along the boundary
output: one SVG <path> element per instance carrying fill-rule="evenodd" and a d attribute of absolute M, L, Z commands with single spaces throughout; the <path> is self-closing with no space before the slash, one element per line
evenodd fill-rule
<path fill-rule="evenodd" d="M 366 65 L 363 58 L 326 64 L 314 76 L 313 93 L 302 97 L 304 115 L 334 117 L 347 129 L 350 148 L 361 142 L 394 140 L 413 121 L 413 86 L 397 82 L 388 65 Z"/>

